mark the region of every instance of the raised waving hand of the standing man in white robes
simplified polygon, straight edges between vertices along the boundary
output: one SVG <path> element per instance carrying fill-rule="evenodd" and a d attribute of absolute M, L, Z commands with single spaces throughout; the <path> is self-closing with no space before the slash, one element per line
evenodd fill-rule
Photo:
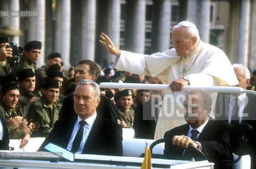
<path fill-rule="evenodd" d="M 100 38 L 100 43 L 105 46 L 105 48 L 108 50 L 110 54 L 116 55 L 116 57 L 120 57 L 121 51 L 114 46 L 113 42 L 109 39 L 109 37 L 106 34 L 101 33 Z"/>

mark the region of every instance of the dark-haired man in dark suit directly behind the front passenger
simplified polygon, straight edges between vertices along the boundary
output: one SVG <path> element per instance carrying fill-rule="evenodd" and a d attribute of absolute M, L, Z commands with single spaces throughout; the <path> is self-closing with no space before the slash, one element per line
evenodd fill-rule
<path fill-rule="evenodd" d="M 75 78 L 76 78 L 76 85 L 81 80 L 90 79 L 95 81 L 99 75 L 99 67 L 96 63 L 91 60 L 82 60 L 78 63 Z M 70 116 L 76 116 L 74 110 L 74 95 L 68 96 L 63 101 L 63 106 L 59 112 L 59 119 L 63 119 Z M 109 98 L 101 95 L 101 102 L 97 107 L 98 115 L 116 121 L 117 122 L 117 112 L 116 108 L 114 107 L 114 103 Z"/>

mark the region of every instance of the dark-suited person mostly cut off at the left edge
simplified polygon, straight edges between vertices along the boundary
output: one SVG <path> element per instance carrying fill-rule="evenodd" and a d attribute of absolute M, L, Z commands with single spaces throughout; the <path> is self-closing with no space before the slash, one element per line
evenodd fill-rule
<path fill-rule="evenodd" d="M 2 110 L 0 109 L 0 149 L 9 149 L 9 134 L 8 128 L 5 123 L 5 118 Z"/>

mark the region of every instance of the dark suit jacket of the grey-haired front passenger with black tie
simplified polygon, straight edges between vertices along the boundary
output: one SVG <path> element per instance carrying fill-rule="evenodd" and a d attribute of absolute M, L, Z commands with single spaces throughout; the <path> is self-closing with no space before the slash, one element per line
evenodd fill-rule
<path fill-rule="evenodd" d="M 77 117 L 57 120 L 45 142 L 38 151 L 46 151 L 48 143 L 67 148 Z M 82 154 L 122 155 L 122 128 L 117 123 L 96 117 L 91 132 L 86 140 Z"/>

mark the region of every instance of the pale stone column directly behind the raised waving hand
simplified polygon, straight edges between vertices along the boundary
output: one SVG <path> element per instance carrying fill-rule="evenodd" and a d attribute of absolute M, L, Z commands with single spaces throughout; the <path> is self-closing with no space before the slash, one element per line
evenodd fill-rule
<path fill-rule="evenodd" d="M 121 20 L 121 5 L 120 0 L 109 0 L 108 1 L 108 36 L 114 43 L 117 49 L 120 45 L 120 20 Z M 106 51 L 107 52 L 107 51 Z M 112 54 L 107 54 L 107 62 L 110 64 L 114 62 L 114 57 Z"/>

